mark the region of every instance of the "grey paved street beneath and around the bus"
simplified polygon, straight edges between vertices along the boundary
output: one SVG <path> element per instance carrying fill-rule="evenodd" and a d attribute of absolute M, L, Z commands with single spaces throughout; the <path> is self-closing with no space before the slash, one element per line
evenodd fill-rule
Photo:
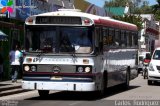
<path fill-rule="evenodd" d="M 159 93 L 159 84 L 148 86 L 147 79 L 143 79 L 140 74 L 130 82 L 129 90 L 124 90 L 121 86 L 108 88 L 103 97 L 98 97 L 93 93 L 52 91 L 48 97 L 40 98 L 37 91 L 29 91 L 3 96 L 0 97 L 0 100 L 2 100 L 2 104 L 6 102 L 6 100 L 7 102 L 9 100 L 12 100 L 12 102 L 18 101 L 18 104 L 22 106 L 42 106 L 46 103 L 47 106 L 53 104 L 57 106 L 105 106 L 106 104 L 128 106 L 132 104 L 129 100 L 160 100 Z M 120 104 L 118 104 L 119 102 Z"/>

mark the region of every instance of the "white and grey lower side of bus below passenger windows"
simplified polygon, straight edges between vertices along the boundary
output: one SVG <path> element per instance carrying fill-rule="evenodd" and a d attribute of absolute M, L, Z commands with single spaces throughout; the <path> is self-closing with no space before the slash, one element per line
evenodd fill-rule
<path fill-rule="evenodd" d="M 137 77 L 136 49 L 110 49 L 104 52 L 105 69 L 108 72 L 108 86 L 126 81 L 126 71 L 130 67 L 130 79 Z"/>

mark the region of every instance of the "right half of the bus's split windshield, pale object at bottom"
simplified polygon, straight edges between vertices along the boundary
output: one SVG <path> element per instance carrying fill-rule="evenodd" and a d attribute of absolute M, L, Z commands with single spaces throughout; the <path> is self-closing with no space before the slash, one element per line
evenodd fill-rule
<path fill-rule="evenodd" d="M 60 41 L 63 45 L 61 45 L 60 43 L 60 48 L 63 51 L 69 52 L 74 50 L 75 53 L 91 52 L 93 47 L 91 30 L 89 30 L 88 28 L 63 27 L 61 28 L 61 32 L 62 37 Z"/>

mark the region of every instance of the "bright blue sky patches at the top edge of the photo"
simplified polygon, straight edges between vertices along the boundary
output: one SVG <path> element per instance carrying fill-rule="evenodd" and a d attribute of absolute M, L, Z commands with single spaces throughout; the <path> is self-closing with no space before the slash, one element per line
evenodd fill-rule
<path fill-rule="evenodd" d="M 86 1 L 88 1 L 88 2 L 90 2 L 92 4 L 95 4 L 95 5 L 99 6 L 99 7 L 103 7 L 104 2 L 105 2 L 105 0 L 86 0 Z M 106 0 L 106 1 L 109 1 L 109 0 Z M 149 5 L 157 4 L 156 0 L 147 0 L 147 1 L 149 1 Z"/>

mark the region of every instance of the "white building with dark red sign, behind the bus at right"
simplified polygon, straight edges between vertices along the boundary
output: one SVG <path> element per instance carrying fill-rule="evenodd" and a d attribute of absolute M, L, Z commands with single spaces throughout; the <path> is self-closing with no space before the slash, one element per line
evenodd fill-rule
<path fill-rule="evenodd" d="M 155 40 L 159 39 L 159 25 L 156 24 L 153 14 L 141 14 L 143 28 L 140 31 L 139 46 L 141 51 L 153 52 Z"/>

